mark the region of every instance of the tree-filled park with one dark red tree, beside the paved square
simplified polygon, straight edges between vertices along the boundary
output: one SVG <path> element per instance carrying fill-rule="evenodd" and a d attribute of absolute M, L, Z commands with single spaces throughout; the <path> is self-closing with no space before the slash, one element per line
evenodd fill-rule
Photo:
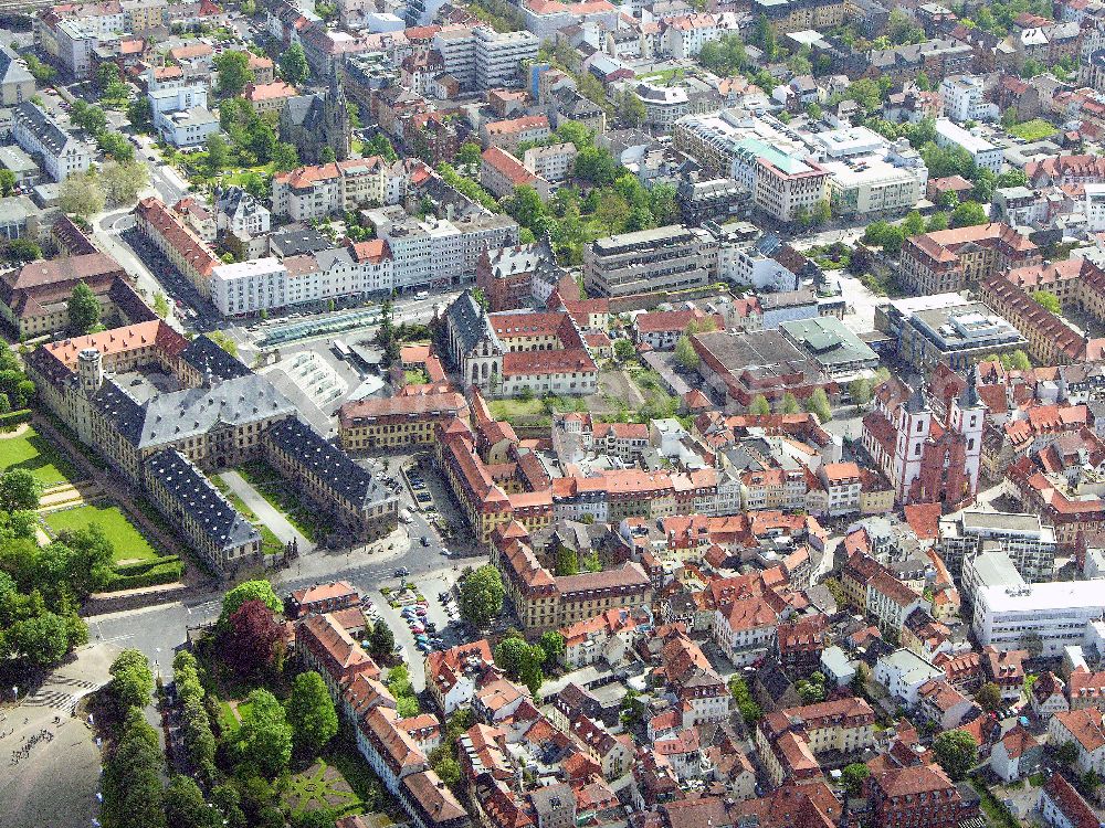
<path fill-rule="evenodd" d="M 287 658 L 285 640 L 272 585 L 245 581 L 225 594 L 211 629 L 176 654 L 171 684 L 155 679 L 139 651 L 119 655 L 95 699 L 105 828 L 317 828 L 393 809 L 323 677 Z M 368 640 L 375 650 L 372 631 Z M 406 665 L 386 676 L 400 714 L 417 714 Z M 180 729 L 168 754 L 147 723 L 151 701 Z M 449 757 L 438 758 L 450 772 Z"/>

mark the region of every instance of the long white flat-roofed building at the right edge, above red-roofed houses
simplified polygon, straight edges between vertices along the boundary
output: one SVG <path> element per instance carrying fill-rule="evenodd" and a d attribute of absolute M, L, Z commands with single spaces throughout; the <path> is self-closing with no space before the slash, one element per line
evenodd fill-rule
<path fill-rule="evenodd" d="M 971 626 L 983 647 L 1017 649 L 1025 634 L 1035 633 L 1044 657 L 1061 656 L 1064 647 L 1082 644 L 1086 625 L 1103 612 L 1099 581 L 983 586 L 976 594 Z"/>

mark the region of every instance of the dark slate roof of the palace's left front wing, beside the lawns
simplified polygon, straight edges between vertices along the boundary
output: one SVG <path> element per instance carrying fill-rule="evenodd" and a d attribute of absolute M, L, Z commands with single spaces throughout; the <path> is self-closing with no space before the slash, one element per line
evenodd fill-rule
<path fill-rule="evenodd" d="M 256 527 L 176 449 L 158 452 L 146 460 L 146 475 L 164 486 L 173 505 L 196 519 L 218 546 L 232 549 L 260 541 Z"/>

